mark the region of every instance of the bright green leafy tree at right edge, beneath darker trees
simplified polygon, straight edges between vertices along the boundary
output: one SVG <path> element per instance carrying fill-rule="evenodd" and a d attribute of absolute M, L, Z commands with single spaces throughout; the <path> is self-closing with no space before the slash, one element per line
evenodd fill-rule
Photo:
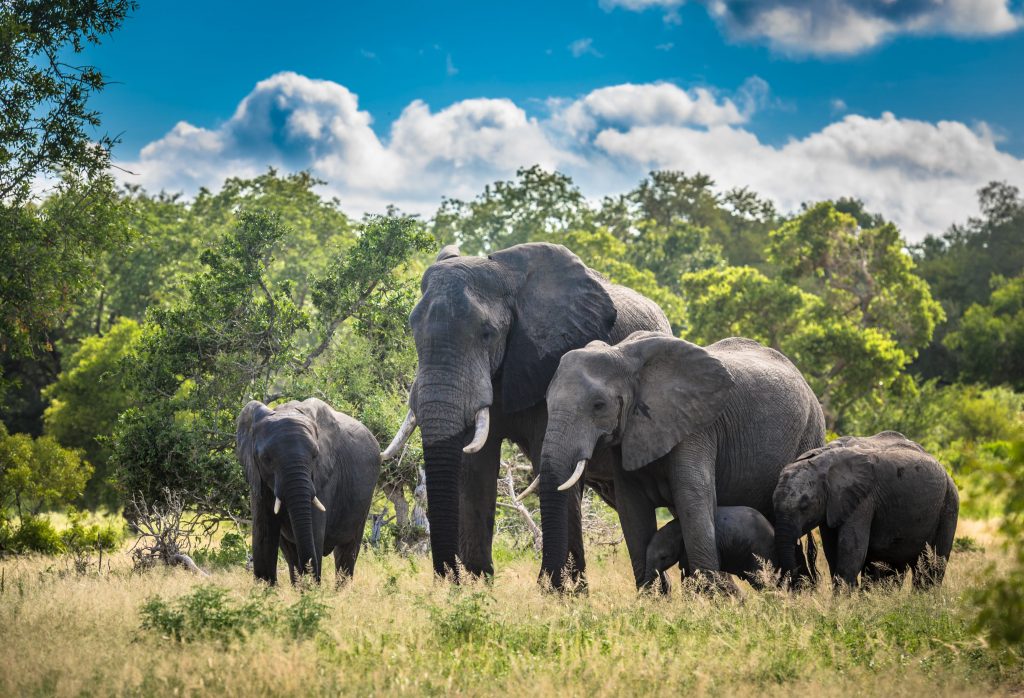
<path fill-rule="evenodd" d="M 1024 275 L 993 275 L 989 302 L 971 305 L 943 344 L 964 380 L 1024 390 Z"/>

